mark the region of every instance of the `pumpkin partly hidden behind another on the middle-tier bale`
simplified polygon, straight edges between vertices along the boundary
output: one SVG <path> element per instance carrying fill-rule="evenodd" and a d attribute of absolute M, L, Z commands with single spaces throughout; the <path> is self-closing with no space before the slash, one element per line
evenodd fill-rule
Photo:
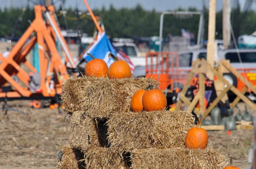
<path fill-rule="evenodd" d="M 134 112 L 141 112 L 143 109 L 142 96 L 146 93 L 146 90 L 140 89 L 134 93 L 131 100 L 131 108 Z"/>

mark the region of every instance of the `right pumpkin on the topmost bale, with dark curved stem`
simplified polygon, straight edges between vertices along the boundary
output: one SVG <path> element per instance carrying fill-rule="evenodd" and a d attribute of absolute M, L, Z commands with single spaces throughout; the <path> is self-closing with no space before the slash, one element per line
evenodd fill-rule
<path fill-rule="evenodd" d="M 113 57 L 115 62 L 112 63 L 108 68 L 109 79 L 122 79 L 129 78 L 132 76 L 132 71 L 128 63 L 124 60 L 118 60 L 118 58 L 112 53 L 108 54 L 108 58 Z"/>

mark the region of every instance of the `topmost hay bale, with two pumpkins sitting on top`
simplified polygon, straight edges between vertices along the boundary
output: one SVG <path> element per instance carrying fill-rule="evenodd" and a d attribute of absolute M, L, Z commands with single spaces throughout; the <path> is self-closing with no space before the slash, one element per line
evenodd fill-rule
<path fill-rule="evenodd" d="M 158 87 L 158 82 L 151 78 L 75 77 L 64 82 L 61 99 L 69 113 L 85 111 L 93 118 L 108 118 L 113 113 L 129 111 L 132 95 L 148 84 Z"/>

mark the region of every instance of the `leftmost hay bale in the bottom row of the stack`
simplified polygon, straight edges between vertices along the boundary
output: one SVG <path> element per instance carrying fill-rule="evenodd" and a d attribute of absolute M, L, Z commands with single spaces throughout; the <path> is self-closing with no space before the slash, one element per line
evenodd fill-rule
<path fill-rule="evenodd" d="M 62 158 L 59 159 L 58 169 L 82 169 L 84 167 L 84 154 L 80 150 L 72 149 L 70 145 L 61 147 Z"/>

